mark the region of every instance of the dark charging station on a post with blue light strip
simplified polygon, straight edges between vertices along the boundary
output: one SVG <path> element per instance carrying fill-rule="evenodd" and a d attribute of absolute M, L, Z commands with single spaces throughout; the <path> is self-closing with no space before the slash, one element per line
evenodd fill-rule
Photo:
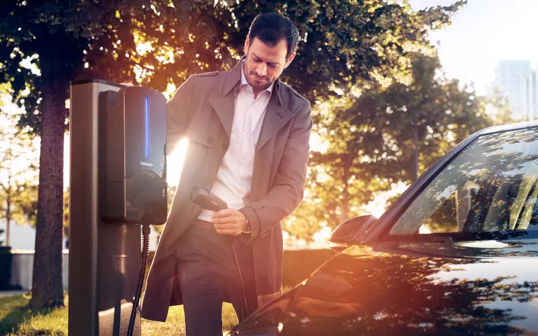
<path fill-rule="evenodd" d="M 167 218 L 166 99 L 95 79 L 71 82 L 70 102 L 69 335 L 140 335 L 149 225 Z"/>

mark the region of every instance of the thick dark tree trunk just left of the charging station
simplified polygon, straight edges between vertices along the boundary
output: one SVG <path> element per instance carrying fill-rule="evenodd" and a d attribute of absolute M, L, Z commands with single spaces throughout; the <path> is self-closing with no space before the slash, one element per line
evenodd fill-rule
<path fill-rule="evenodd" d="M 53 48 L 52 46 L 50 48 Z M 54 53 L 51 50 L 52 54 Z M 44 52 L 47 54 L 48 52 Z M 53 56 L 53 57 L 50 57 Z M 56 55 L 41 55 L 41 156 L 37 202 L 36 249 L 30 307 L 64 304 L 62 286 L 63 169 L 65 99 L 68 83 Z"/>

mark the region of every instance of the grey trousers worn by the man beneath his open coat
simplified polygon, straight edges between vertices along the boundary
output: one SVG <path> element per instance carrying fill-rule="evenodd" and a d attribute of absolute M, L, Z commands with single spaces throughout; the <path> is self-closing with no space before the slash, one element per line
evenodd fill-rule
<path fill-rule="evenodd" d="M 244 294 L 237 272 L 233 237 L 195 221 L 177 250 L 179 286 L 185 311 L 186 336 L 221 336 L 222 304 L 231 302 L 242 320 Z"/>

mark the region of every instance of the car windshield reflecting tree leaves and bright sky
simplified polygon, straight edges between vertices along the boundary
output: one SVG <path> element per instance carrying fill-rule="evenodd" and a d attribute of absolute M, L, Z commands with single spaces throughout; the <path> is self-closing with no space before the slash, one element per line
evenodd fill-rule
<path fill-rule="evenodd" d="M 538 129 L 483 135 L 443 168 L 389 235 L 538 230 L 537 186 Z"/>

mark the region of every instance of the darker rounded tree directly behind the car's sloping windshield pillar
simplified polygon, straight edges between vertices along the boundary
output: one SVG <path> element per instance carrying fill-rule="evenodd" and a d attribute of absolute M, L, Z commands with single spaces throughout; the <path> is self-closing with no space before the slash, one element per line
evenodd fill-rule
<path fill-rule="evenodd" d="M 408 182 L 471 133 L 492 125 L 485 99 L 473 87 L 437 75 L 441 63 L 436 55 L 416 53 L 411 59 L 411 83 L 390 85 L 376 111 L 386 116 L 388 123 L 382 128 L 402 150 L 399 161 L 408 167 Z"/>

